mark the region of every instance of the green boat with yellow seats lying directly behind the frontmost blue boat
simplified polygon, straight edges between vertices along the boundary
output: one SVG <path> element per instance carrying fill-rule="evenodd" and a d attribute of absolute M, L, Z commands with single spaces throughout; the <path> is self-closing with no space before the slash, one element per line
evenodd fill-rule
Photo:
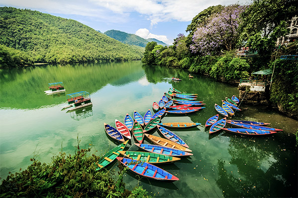
<path fill-rule="evenodd" d="M 152 152 L 142 152 L 142 151 L 119 151 L 125 157 L 137 160 L 144 161 L 150 164 L 166 164 L 173 163 L 180 160 L 178 157 L 173 157 L 169 155 L 157 154 Z"/>

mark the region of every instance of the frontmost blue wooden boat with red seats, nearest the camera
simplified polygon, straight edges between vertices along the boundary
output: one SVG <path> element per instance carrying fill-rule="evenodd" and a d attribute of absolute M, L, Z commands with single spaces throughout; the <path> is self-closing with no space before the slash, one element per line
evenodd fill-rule
<path fill-rule="evenodd" d="M 117 159 L 124 166 L 128 167 L 130 171 L 138 175 L 141 175 L 142 177 L 167 182 L 174 182 L 179 180 L 176 176 L 172 175 L 171 173 L 147 162 L 140 162 L 134 159 L 124 157 L 117 157 Z"/>

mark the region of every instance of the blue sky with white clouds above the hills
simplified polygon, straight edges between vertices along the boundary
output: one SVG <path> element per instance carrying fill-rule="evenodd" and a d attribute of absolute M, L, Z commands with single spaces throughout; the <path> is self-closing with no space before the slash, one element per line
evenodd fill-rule
<path fill-rule="evenodd" d="M 1 0 L 0 6 L 27 8 L 74 19 L 95 30 L 119 30 L 171 45 L 199 12 L 212 5 L 251 0 Z"/>

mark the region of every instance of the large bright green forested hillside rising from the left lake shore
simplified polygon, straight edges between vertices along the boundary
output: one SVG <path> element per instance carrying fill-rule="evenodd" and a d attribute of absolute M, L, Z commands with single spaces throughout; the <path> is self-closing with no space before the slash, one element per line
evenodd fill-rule
<path fill-rule="evenodd" d="M 72 19 L 13 7 L 0 7 L 0 35 L 5 57 L 17 49 L 33 62 L 136 60 L 144 52 Z"/>

